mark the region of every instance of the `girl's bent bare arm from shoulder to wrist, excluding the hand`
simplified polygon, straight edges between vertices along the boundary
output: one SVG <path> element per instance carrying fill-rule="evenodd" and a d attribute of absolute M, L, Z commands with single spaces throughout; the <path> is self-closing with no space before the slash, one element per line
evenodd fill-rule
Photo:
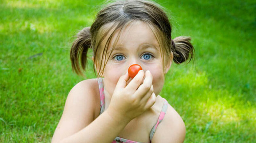
<path fill-rule="evenodd" d="M 98 103 L 95 96 L 92 96 L 92 87 L 98 85 L 93 84 L 93 80 L 84 80 L 71 89 L 52 143 L 109 143 L 129 123 L 128 118 L 117 116 L 109 110 L 104 111 L 93 121 L 94 107 Z"/>

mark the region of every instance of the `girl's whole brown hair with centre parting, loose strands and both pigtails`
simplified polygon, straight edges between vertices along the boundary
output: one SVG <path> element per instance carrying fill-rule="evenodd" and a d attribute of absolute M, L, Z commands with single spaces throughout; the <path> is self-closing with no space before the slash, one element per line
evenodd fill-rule
<path fill-rule="evenodd" d="M 114 50 L 125 26 L 133 21 L 145 22 L 155 34 L 163 59 L 163 71 L 165 70 L 165 65 L 169 64 L 172 59 L 177 64 L 187 61 L 188 59 L 188 62 L 190 62 L 191 59 L 194 60 L 195 49 L 190 43 L 190 37 L 176 37 L 173 39 L 174 42 L 172 42 L 171 24 L 163 9 L 164 8 L 160 5 L 145 0 L 116 1 L 105 6 L 98 12 L 91 27 L 85 27 L 78 32 L 77 38 L 73 42 L 70 50 L 72 70 L 78 75 L 83 75 L 82 70 L 85 71 L 87 62 L 87 51 L 88 48 L 92 48 L 94 73 L 94 65 L 96 65 L 96 69 L 98 70 L 97 76 L 100 76 L 104 72 L 105 65 L 110 57 L 107 57 L 109 53 L 108 46 L 113 35 L 118 32 L 117 39 L 115 39 L 110 54 Z M 99 49 L 101 48 L 101 42 L 108 34 L 110 34 L 110 36 L 104 48 Z M 190 58 L 189 55 L 191 55 Z M 80 68 L 79 59 L 82 70 Z"/>

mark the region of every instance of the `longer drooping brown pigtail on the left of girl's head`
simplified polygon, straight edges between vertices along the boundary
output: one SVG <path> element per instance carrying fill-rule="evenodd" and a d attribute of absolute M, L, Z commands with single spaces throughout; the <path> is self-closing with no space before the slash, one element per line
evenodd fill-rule
<path fill-rule="evenodd" d="M 75 71 L 77 75 L 82 75 L 82 70 L 85 71 L 87 63 L 88 48 L 91 47 L 92 39 L 90 27 L 85 27 L 83 30 L 77 33 L 76 40 L 73 42 L 70 49 L 70 60 L 72 64 L 72 71 Z M 79 59 L 82 69 L 79 65 Z"/>

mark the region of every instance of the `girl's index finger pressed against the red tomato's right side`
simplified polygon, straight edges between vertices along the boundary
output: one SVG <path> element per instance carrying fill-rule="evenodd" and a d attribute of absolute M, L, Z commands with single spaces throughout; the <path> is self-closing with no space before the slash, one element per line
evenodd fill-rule
<path fill-rule="evenodd" d="M 131 82 L 126 86 L 128 90 L 136 91 L 138 87 L 140 86 L 142 80 L 144 77 L 144 71 L 140 70 L 138 74 L 132 79 Z"/>

